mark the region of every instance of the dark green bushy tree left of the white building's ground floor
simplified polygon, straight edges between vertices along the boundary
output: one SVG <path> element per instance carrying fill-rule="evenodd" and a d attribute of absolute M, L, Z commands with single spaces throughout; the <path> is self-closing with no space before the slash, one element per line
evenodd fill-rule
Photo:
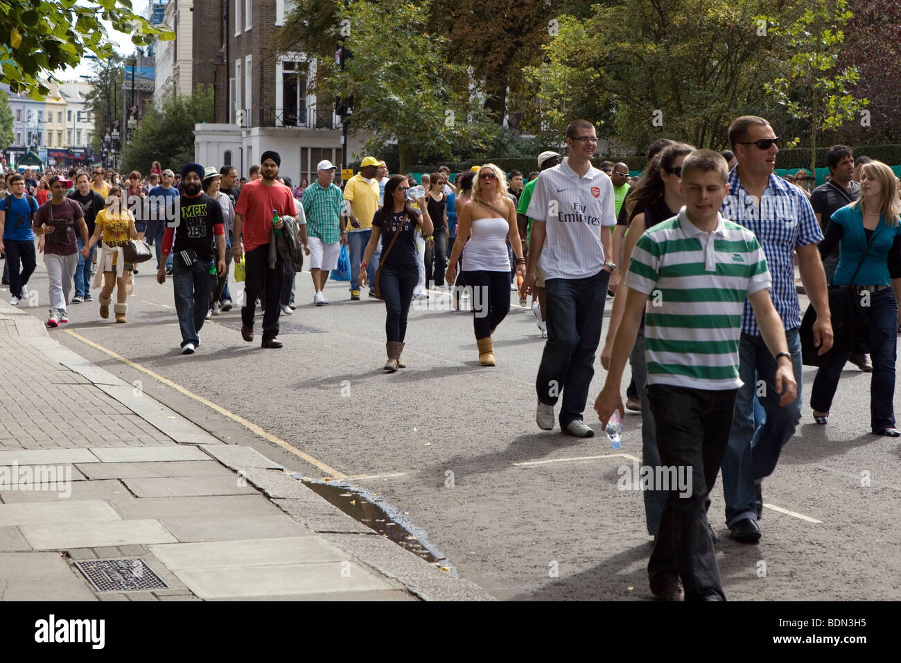
<path fill-rule="evenodd" d="M 141 118 L 125 146 L 123 171 L 150 170 L 153 161 L 178 171 L 194 161 L 194 125 L 213 122 L 213 89 L 198 87 L 194 94 L 170 95 L 160 109 L 152 108 Z"/>

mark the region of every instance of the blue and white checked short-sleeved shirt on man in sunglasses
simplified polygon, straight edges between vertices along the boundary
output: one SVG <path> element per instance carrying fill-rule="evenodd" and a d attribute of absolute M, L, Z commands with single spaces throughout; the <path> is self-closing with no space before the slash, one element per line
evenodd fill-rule
<path fill-rule="evenodd" d="M 800 189 L 770 174 L 759 208 L 756 197 L 742 187 L 736 167 L 729 173 L 729 193 L 720 213 L 757 236 L 772 273 L 773 287 L 769 296 L 779 318 L 786 329 L 800 327 L 801 304 L 795 287 L 793 252 L 797 246 L 823 241 L 823 231 L 816 222 L 810 201 Z M 760 336 L 754 311 L 747 301 L 742 313 L 742 332 Z"/>

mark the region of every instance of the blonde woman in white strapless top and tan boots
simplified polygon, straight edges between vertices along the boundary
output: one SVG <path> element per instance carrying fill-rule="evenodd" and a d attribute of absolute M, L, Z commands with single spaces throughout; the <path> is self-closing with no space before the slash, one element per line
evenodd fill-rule
<path fill-rule="evenodd" d="M 507 237 L 516 254 L 516 272 L 520 276 L 525 275 L 523 244 L 516 226 L 516 206 L 507 197 L 506 191 L 503 170 L 493 163 L 487 163 L 478 170 L 472 186 L 472 198 L 460 209 L 457 241 L 454 242 L 445 273 L 447 282 L 452 284 L 457 276 L 457 259 L 462 252 L 464 281 L 472 291 L 478 362 L 483 366 L 495 365 L 491 335 L 510 312 Z"/>

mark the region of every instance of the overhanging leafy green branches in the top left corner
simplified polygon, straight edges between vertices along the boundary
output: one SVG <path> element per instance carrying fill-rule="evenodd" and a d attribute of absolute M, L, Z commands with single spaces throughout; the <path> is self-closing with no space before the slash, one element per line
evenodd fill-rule
<path fill-rule="evenodd" d="M 76 4 L 78 1 L 78 4 Z M 153 27 L 132 12 L 132 0 L 17 0 L 0 3 L 0 82 L 14 92 L 41 100 L 48 87 L 42 72 L 75 67 L 91 54 L 108 60 L 114 53 L 101 19 L 132 34 L 135 46 L 147 46 L 154 35 L 175 39 L 168 26 Z"/>

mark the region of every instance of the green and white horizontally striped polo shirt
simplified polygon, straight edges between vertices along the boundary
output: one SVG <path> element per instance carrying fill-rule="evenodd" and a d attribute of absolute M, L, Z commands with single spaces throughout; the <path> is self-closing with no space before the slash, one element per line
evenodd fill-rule
<path fill-rule="evenodd" d="M 742 386 L 742 306 L 770 285 L 766 259 L 751 231 L 718 216 L 714 232 L 706 233 L 682 207 L 639 238 L 625 284 L 649 296 L 648 384 L 714 391 Z"/>

